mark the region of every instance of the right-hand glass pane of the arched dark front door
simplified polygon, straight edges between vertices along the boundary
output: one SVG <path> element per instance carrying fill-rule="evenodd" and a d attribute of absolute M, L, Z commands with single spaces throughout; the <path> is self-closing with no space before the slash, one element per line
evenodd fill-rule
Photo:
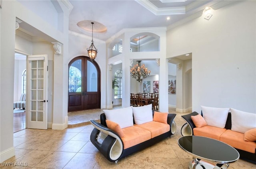
<path fill-rule="evenodd" d="M 97 92 L 97 69 L 92 62 L 87 61 L 87 92 Z"/>

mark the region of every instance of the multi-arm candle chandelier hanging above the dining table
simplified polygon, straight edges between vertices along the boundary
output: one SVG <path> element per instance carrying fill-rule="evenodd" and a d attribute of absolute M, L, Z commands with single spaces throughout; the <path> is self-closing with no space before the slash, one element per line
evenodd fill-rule
<path fill-rule="evenodd" d="M 146 68 L 144 64 L 140 66 L 140 62 L 141 61 L 138 61 L 138 64 L 134 65 L 134 67 L 130 70 L 131 77 L 135 78 L 138 82 L 141 82 L 142 79 L 145 79 L 150 75 L 150 71 L 148 71 L 148 68 Z"/>

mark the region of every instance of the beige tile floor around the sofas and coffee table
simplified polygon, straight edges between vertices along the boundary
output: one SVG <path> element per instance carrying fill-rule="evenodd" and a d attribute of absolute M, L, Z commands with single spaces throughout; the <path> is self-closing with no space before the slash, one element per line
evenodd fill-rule
<path fill-rule="evenodd" d="M 102 111 L 102 110 L 99 110 Z M 90 111 L 87 112 L 90 114 Z M 3 166 L 1 169 L 188 169 L 192 156 L 178 146 L 180 129 L 184 124 L 181 115 L 176 113 L 174 119 L 177 131 L 171 138 L 166 138 L 143 151 L 120 159 L 117 164 L 108 161 L 90 142 L 93 127 L 81 121 L 80 125 L 65 130 L 25 129 L 14 133 L 15 156 L 4 161 L 6 164 L 20 166 Z M 76 117 L 80 116 L 76 112 Z M 74 114 L 72 114 L 74 116 Z M 72 116 L 69 114 L 69 116 Z M 98 114 L 96 114 L 98 118 Z M 71 118 L 70 118 L 71 119 Z M 80 118 L 79 118 L 80 120 Z M 71 122 L 70 122 L 71 123 Z M 10 163 L 8 163 L 10 162 Z M 231 163 L 229 169 L 255 169 L 256 164 L 239 159 Z"/>

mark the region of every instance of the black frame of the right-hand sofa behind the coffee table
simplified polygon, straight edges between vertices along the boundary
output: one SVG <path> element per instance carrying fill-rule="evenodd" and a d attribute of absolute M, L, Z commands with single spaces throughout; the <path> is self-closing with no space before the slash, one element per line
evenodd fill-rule
<path fill-rule="evenodd" d="M 193 121 L 191 119 L 191 116 L 196 116 L 196 115 L 198 115 L 197 112 L 192 112 L 190 114 L 186 114 L 186 115 L 181 116 L 186 121 L 186 123 L 181 128 L 182 136 L 192 136 L 192 135 L 194 135 L 193 128 L 195 128 L 196 126 L 193 123 Z M 203 116 L 202 112 L 201 112 L 201 116 Z M 227 121 L 226 121 L 225 128 L 227 130 L 228 129 L 231 130 L 231 113 L 230 112 L 228 112 L 228 118 L 227 118 Z M 244 151 L 242 149 L 237 149 L 237 148 L 235 148 L 235 149 L 239 152 L 241 159 L 246 159 L 246 160 L 252 161 L 253 163 L 256 163 L 256 149 L 255 149 L 255 153 L 250 153 L 250 152 Z"/>

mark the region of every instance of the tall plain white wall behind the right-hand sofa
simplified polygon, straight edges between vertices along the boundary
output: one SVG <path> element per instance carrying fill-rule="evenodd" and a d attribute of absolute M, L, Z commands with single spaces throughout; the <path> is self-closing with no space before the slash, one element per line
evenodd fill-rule
<path fill-rule="evenodd" d="M 167 56 L 192 52 L 192 108 L 256 112 L 256 1 L 234 2 L 167 31 Z"/>

